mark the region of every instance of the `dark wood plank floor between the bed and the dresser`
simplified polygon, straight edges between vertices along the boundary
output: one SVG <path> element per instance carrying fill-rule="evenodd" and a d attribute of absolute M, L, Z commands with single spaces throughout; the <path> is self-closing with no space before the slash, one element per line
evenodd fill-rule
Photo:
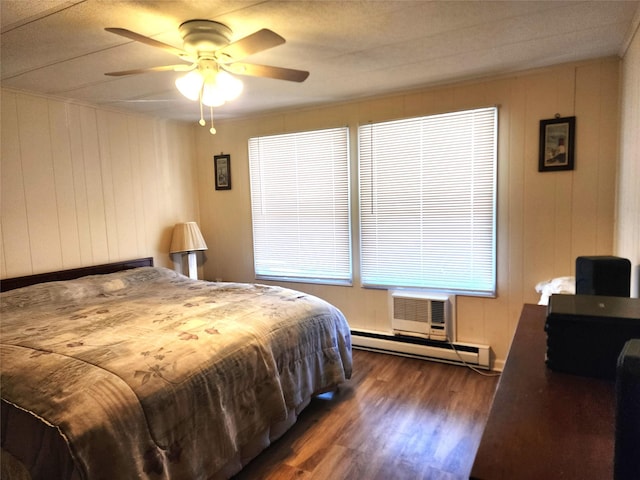
<path fill-rule="evenodd" d="M 316 398 L 237 480 L 468 478 L 497 377 L 354 350 L 353 378 Z"/>

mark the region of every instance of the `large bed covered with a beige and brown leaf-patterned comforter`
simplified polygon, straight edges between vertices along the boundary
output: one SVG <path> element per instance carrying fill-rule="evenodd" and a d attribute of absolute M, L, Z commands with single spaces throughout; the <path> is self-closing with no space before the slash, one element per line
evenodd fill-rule
<path fill-rule="evenodd" d="M 350 378 L 329 303 L 151 264 L 2 280 L 3 480 L 230 478 Z"/>

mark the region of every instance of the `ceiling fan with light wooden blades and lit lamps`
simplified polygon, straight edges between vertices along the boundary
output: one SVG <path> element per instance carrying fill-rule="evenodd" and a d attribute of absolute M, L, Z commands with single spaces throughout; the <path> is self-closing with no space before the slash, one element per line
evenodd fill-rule
<path fill-rule="evenodd" d="M 266 77 L 291 82 L 304 82 L 309 72 L 291 68 L 245 63 L 241 60 L 255 53 L 285 43 L 277 33 L 263 28 L 251 35 L 231 41 L 232 31 L 226 25 L 213 20 L 188 20 L 179 27 L 184 46 L 182 49 L 145 37 L 125 28 L 105 28 L 131 40 L 160 48 L 172 53 L 186 63 L 161 65 L 135 70 L 108 72 L 109 76 L 137 75 L 148 72 L 177 71 L 187 74 L 176 80 L 176 87 L 190 100 L 199 100 L 200 125 L 205 125 L 202 106 L 218 107 L 236 98 L 242 91 L 242 82 L 230 74 Z M 213 118 L 211 133 L 213 128 Z"/>

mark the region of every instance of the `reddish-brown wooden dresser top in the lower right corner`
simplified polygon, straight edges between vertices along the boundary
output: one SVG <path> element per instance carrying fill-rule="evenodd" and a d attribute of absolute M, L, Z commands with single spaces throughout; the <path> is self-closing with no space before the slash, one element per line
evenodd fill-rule
<path fill-rule="evenodd" d="M 613 478 L 615 383 L 549 370 L 546 307 L 525 305 L 471 478 Z"/>

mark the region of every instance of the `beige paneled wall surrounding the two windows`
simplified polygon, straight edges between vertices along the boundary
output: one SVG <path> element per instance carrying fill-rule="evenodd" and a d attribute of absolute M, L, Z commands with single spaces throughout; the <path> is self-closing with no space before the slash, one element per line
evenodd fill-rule
<path fill-rule="evenodd" d="M 614 253 L 619 68 L 617 58 L 566 64 L 384 98 L 218 122 L 215 136 L 199 130 L 201 227 L 210 248 L 205 277 L 254 281 L 247 159 L 250 137 L 349 125 L 356 188 L 359 124 L 499 105 L 498 296 L 459 297 L 457 331 L 460 341 L 490 345 L 495 365 L 500 367 L 522 304 L 539 299 L 535 285 L 573 275 L 577 256 Z M 539 121 L 557 113 L 577 117 L 576 168 L 539 173 Z M 212 157 L 220 152 L 231 154 L 233 189 L 229 191 L 215 191 L 213 185 Z M 353 223 L 357 259 L 357 221 Z M 354 328 L 390 330 L 386 291 L 364 289 L 357 277 L 353 287 L 289 286 L 333 302 Z"/>

